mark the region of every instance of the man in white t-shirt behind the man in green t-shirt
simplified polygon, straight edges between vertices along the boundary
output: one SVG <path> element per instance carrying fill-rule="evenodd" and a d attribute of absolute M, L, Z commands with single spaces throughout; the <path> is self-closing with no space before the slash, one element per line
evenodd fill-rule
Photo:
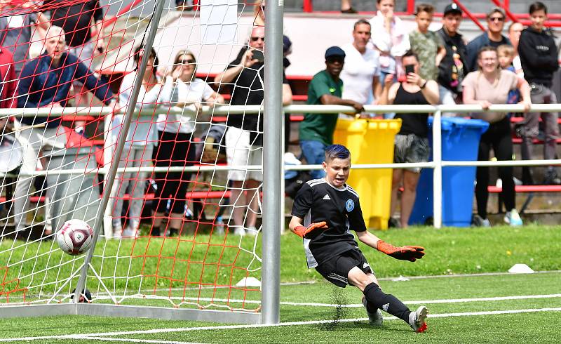
<path fill-rule="evenodd" d="M 343 98 L 360 104 L 369 101 L 374 104 L 381 94 L 379 54 L 367 47 L 371 35 L 370 22 L 360 19 L 353 28 L 353 43 L 342 46 L 346 54 L 340 75 L 344 84 Z"/>

